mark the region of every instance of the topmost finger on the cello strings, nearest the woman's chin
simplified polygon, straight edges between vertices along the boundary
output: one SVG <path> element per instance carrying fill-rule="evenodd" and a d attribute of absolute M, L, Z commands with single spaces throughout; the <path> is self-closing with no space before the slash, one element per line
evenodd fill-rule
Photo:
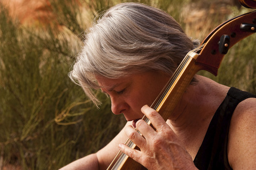
<path fill-rule="evenodd" d="M 141 112 L 148 119 L 150 119 L 152 125 L 154 126 L 154 128 L 157 131 L 161 130 L 162 128 L 169 128 L 169 127 L 166 127 L 168 125 L 165 123 L 163 117 L 156 110 L 152 109 L 151 107 L 148 107 L 147 105 L 145 105 L 141 108 Z"/>

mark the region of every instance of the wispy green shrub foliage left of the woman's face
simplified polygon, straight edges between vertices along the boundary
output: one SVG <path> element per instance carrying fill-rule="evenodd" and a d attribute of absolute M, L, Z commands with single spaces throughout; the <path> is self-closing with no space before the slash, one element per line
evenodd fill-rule
<path fill-rule="evenodd" d="M 62 12 L 56 22 L 65 26 L 56 32 L 54 25 L 20 27 L 1 8 L 0 147 L 5 164 L 57 169 L 102 148 L 125 123 L 111 114 L 105 95 L 99 95 L 103 105 L 98 110 L 69 79 L 82 26 L 74 20 L 77 11 Z"/>

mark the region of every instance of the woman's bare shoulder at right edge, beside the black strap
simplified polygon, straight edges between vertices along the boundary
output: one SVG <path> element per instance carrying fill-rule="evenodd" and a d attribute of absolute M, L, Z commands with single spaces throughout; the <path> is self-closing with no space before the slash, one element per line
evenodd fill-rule
<path fill-rule="evenodd" d="M 256 98 L 239 103 L 231 118 L 228 160 L 233 169 L 256 166 Z"/>

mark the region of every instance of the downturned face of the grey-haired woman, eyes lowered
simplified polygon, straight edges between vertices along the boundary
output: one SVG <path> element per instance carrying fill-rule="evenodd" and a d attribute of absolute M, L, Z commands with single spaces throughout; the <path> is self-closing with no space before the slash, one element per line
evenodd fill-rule
<path fill-rule="evenodd" d="M 96 77 L 96 79 L 102 92 L 110 96 L 112 112 L 123 113 L 126 120 L 131 121 L 143 117 L 141 107 L 151 106 L 169 77 L 160 71 L 148 71 L 125 78 Z"/>

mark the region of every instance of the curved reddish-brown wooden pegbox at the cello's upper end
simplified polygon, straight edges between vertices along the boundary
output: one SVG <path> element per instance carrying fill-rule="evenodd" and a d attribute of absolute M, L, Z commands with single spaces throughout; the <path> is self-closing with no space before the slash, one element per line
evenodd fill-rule
<path fill-rule="evenodd" d="M 212 31 L 209 36 L 205 38 L 205 43 L 200 55 L 196 61 L 196 64 L 202 65 L 203 69 L 211 72 L 211 74 L 217 76 L 218 68 L 224 55 L 219 52 L 219 41 L 222 35 L 230 36 L 229 48 L 234 44 L 242 40 L 243 38 L 253 34 L 251 32 L 245 32 L 240 29 L 241 23 L 253 24 L 253 19 L 256 18 L 256 11 L 247 14 L 240 15 L 232 18 Z"/>

